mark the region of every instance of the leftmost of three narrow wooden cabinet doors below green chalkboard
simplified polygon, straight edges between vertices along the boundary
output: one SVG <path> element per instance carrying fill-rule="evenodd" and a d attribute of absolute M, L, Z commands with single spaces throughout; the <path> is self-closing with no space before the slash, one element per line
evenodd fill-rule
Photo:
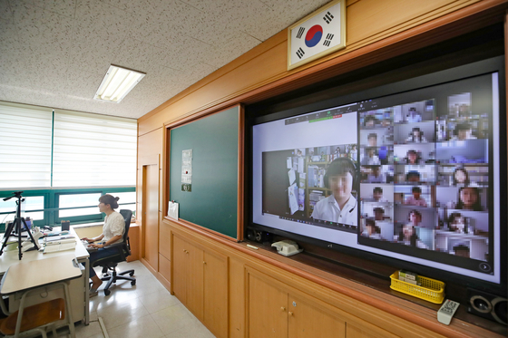
<path fill-rule="evenodd" d="M 187 269 L 188 256 L 185 242 L 180 237 L 173 236 L 173 262 L 171 273 L 171 289 L 182 304 L 187 304 Z"/>

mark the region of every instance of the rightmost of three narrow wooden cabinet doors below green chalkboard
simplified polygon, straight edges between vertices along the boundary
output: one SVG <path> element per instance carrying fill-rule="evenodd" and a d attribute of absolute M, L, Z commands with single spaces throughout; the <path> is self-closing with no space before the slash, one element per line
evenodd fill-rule
<path fill-rule="evenodd" d="M 216 337 L 228 336 L 228 256 L 204 251 L 204 324 Z"/>

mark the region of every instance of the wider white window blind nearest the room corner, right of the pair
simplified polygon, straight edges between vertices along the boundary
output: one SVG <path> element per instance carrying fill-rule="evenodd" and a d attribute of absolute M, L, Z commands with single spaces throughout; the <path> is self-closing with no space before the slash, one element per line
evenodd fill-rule
<path fill-rule="evenodd" d="M 54 111 L 53 187 L 136 184 L 137 121 Z"/>

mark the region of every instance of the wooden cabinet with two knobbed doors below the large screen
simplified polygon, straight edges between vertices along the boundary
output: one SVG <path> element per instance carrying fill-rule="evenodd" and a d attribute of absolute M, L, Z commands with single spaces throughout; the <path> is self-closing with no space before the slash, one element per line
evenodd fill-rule
<path fill-rule="evenodd" d="M 249 338 L 346 337 L 337 309 L 249 270 Z"/>

